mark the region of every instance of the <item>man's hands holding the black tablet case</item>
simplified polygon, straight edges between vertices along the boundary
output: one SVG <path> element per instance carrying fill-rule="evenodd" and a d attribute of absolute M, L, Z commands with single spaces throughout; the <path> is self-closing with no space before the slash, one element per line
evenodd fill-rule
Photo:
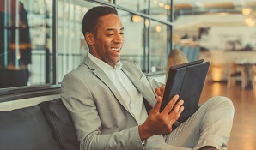
<path fill-rule="evenodd" d="M 179 98 L 179 95 L 175 95 L 168 105 L 160 111 L 162 104 L 162 96 L 165 89 L 165 85 L 156 88 L 155 93 L 158 95 L 157 102 L 152 110 L 149 112 L 149 117 L 146 121 L 138 127 L 139 135 L 142 141 L 148 139 L 152 135 L 168 134 L 172 131 L 172 126 L 176 120 L 180 117 L 180 113 L 184 110 L 183 100 L 180 100 L 176 105 L 175 102 Z M 172 108 L 174 109 L 172 110 Z M 172 110 L 172 111 L 171 111 Z"/>

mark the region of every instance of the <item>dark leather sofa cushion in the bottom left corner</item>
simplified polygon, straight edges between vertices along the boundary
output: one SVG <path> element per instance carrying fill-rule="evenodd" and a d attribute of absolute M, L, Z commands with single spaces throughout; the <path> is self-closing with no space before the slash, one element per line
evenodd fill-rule
<path fill-rule="evenodd" d="M 0 149 L 59 150 L 38 106 L 0 111 Z"/>

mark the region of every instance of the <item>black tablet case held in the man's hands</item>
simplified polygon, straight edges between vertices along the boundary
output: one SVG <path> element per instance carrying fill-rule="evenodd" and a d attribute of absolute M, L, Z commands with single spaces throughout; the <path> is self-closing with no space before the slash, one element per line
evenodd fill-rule
<path fill-rule="evenodd" d="M 204 87 L 210 62 L 204 59 L 175 65 L 169 69 L 168 80 L 162 99 L 160 111 L 168 104 L 175 94 L 179 94 L 184 100 L 184 111 L 180 114 L 178 122 L 184 122 L 185 118 L 192 116 L 198 110 L 198 102 Z"/>

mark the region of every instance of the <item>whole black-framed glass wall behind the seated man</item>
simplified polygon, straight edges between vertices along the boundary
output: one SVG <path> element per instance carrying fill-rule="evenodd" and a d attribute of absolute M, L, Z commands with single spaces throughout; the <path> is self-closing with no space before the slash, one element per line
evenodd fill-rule
<path fill-rule="evenodd" d="M 125 27 L 121 59 L 137 63 L 146 75 L 165 73 L 172 35 L 170 0 L 163 7 L 161 2 L 149 0 L 0 2 L 0 88 L 59 86 L 64 75 L 81 64 L 88 53 L 82 17 L 98 5 L 119 12 Z"/>

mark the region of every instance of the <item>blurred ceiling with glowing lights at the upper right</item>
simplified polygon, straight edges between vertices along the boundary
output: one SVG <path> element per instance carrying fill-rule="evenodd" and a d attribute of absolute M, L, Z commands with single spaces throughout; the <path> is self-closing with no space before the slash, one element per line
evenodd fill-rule
<path fill-rule="evenodd" d="M 251 9 L 250 15 L 242 15 L 245 7 Z M 245 19 L 248 17 L 256 21 L 256 0 L 174 0 L 176 29 L 247 26 Z"/>

